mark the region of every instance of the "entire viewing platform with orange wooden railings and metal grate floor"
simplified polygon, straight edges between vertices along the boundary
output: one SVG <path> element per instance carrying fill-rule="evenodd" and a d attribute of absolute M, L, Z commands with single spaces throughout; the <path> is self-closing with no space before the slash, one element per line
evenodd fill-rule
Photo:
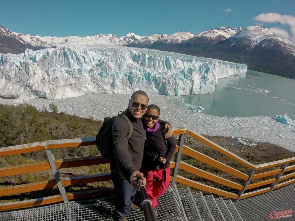
<path fill-rule="evenodd" d="M 158 220 L 295 220 L 295 157 L 253 165 L 227 149 L 186 127 L 176 128 L 177 146 L 170 187 L 159 197 Z M 184 145 L 187 136 L 198 140 L 227 163 Z M 66 192 L 65 187 L 111 180 L 110 173 L 61 178 L 59 169 L 108 164 L 102 156 L 55 159 L 53 149 L 95 145 L 95 137 L 42 141 L 0 148 L 0 156 L 46 151 L 47 161 L 0 168 L 0 177 L 51 170 L 54 179 L 0 188 L 0 196 L 57 188 L 60 194 L 16 202 L 0 203 L 0 221 L 14 220 L 111 220 L 114 190 L 86 189 Z M 188 159 L 191 164 L 188 163 Z M 185 162 L 186 161 L 186 162 Z M 206 165 L 200 169 L 198 165 Z M 238 166 L 239 165 L 239 166 Z M 212 172 L 212 168 L 220 173 Z M 239 169 L 243 168 L 243 171 Z M 186 176 L 180 175 L 184 171 Z M 245 171 L 248 171 L 245 173 Z M 224 178 L 221 172 L 229 176 Z M 201 177 L 215 185 L 194 181 Z M 176 188 L 181 184 L 189 188 Z M 216 188 L 219 187 L 219 188 Z M 194 192 L 194 189 L 202 192 Z M 192 190 L 192 191 L 191 191 Z M 213 194 L 213 195 L 210 195 Z M 32 208 L 29 208 L 32 207 Z M 132 211 L 128 220 L 147 220 L 146 210 Z"/>

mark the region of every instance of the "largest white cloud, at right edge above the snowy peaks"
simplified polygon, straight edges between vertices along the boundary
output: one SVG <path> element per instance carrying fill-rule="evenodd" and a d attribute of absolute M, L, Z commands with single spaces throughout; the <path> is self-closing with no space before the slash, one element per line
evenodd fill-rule
<path fill-rule="evenodd" d="M 282 15 L 282 14 L 278 14 L 278 13 L 266 13 L 266 14 L 260 14 L 260 15 L 256 16 L 254 18 L 254 20 L 259 21 L 259 22 L 268 22 L 268 23 L 279 22 L 281 24 L 289 25 L 291 33 L 292 33 L 292 37 L 290 39 L 293 42 L 295 42 L 295 17 L 294 16 L 285 15 L 285 14 Z M 284 33 L 284 34 L 286 35 L 286 33 Z"/>

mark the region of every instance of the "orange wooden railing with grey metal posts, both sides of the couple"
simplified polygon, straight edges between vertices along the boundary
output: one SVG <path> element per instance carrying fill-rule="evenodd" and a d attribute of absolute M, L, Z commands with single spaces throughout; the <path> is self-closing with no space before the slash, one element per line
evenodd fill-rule
<path fill-rule="evenodd" d="M 287 171 L 295 170 L 295 165 L 288 166 L 289 163 L 295 161 L 295 157 L 289 159 L 284 159 L 280 161 L 273 161 L 266 164 L 253 165 L 250 162 L 242 159 L 241 157 L 231 153 L 230 151 L 224 149 L 223 147 L 213 143 L 209 139 L 201 136 L 200 134 L 187 129 L 186 127 L 176 128 L 173 130 L 173 135 L 178 135 L 178 144 L 175 151 L 175 159 L 170 162 L 171 169 L 173 170 L 170 180 L 172 182 L 178 182 L 185 184 L 189 187 L 194 187 L 196 189 L 206 191 L 212 194 L 217 194 L 223 197 L 228 197 L 234 200 L 239 200 L 251 196 L 255 196 L 261 193 L 269 192 L 280 187 L 292 184 L 295 182 L 295 172 L 284 174 Z M 205 154 L 202 154 L 199 151 L 191 149 L 190 147 L 184 145 L 185 137 L 189 135 L 196 140 L 206 144 L 215 151 L 218 151 L 220 154 L 223 154 L 229 157 L 231 160 L 242 164 L 244 167 L 248 168 L 248 173 L 239 171 L 238 169 L 232 168 L 231 166 L 226 165 L 216 159 L 213 159 Z M 34 182 L 29 184 L 21 184 L 15 186 L 1 187 L 0 196 L 7 196 L 12 194 L 20 194 L 25 192 L 33 192 L 37 190 L 52 189 L 58 188 L 60 194 L 42 197 L 38 199 L 23 200 L 17 202 L 8 202 L 0 203 L 0 211 L 3 210 L 13 210 L 24 207 L 32 207 L 38 205 L 52 204 L 56 202 L 67 202 L 71 199 L 82 199 L 82 198 L 91 198 L 99 197 L 103 195 L 108 195 L 113 192 L 113 189 L 109 190 L 81 190 L 78 192 L 66 192 L 65 186 L 77 185 L 77 184 L 88 184 L 94 182 L 103 182 L 111 179 L 110 173 L 105 174 L 95 174 L 87 176 L 78 176 L 78 177 L 66 177 L 60 178 L 59 169 L 71 168 L 71 167 L 80 167 L 80 166 L 92 166 L 99 164 L 108 164 L 109 160 L 104 159 L 102 156 L 91 156 L 84 158 L 75 158 L 75 159 L 55 159 L 52 153 L 52 149 L 57 148 L 69 148 L 69 147 L 79 147 L 79 146 L 89 146 L 95 145 L 95 138 L 76 138 L 76 139 L 66 139 L 66 140 L 55 140 L 55 141 L 42 141 L 32 144 L 24 144 L 10 147 L 0 148 L 0 156 L 9 156 L 12 154 L 21 154 L 32 151 L 41 151 L 45 150 L 48 160 L 41 161 L 30 164 L 23 164 L 17 166 L 8 166 L 0 168 L 0 177 L 26 174 L 39 171 L 48 171 L 51 170 L 54 174 L 55 179 L 45 180 L 41 182 Z M 225 174 L 230 174 L 234 180 L 225 179 L 220 175 L 209 172 L 210 169 L 202 170 L 195 166 L 189 165 L 186 162 L 182 161 L 182 155 L 187 155 L 193 159 L 201 161 L 202 163 L 208 165 L 210 168 L 216 168 L 218 171 L 223 171 Z M 256 173 L 262 169 L 269 169 L 273 167 L 278 167 L 269 171 L 264 171 L 261 173 Z M 194 174 L 196 177 L 201 177 L 210 182 L 221 184 L 227 188 L 232 189 L 232 191 L 225 191 L 223 189 L 218 189 L 210 185 L 197 182 L 195 180 L 188 179 L 186 177 L 179 175 L 179 170 L 186 171 L 187 173 Z M 276 177 L 263 180 L 260 182 L 255 182 L 256 179 L 261 179 L 265 177 L 270 177 L 276 175 Z M 287 180 L 282 182 L 283 180 Z M 238 181 L 242 180 L 242 183 Z M 254 181 L 254 182 L 253 182 Z M 251 183 L 253 182 L 253 183 Z M 281 182 L 278 184 L 278 182 Z M 263 187 L 262 189 L 258 189 Z M 247 192 L 247 190 L 253 190 Z"/>

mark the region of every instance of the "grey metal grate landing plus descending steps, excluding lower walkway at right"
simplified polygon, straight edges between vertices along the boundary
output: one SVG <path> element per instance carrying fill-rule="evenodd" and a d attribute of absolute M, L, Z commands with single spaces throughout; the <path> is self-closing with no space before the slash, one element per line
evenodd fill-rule
<path fill-rule="evenodd" d="M 227 206 L 230 205 L 231 208 Z M 0 221 L 110 221 L 114 197 L 72 201 L 49 206 L 0 213 Z M 232 213 L 234 211 L 234 214 Z M 236 219 L 237 217 L 237 219 Z M 131 211 L 129 221 L 144 221 L 143 210 Z M 159 221 L 242 220 L 231 201 L 203 196 L 189 188 L 177 189 L 171 184 L 158 200 Z"/>

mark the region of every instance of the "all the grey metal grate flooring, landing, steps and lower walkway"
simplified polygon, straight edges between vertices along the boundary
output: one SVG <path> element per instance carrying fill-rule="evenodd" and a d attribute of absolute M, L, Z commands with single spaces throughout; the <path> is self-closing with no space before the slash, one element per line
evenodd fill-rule
<path fill-rule="evenodd" d="M 295 210 L 293 195 L 295 184 L 256 197 L 232 202 L 222 197 L 177 189 L 170 184 L 158 199 L 159 221 L 256 221 L 270 220 L 272 210 Z M 286 196 L 290 196 L 286 198 Z M 0 221 L 110 221 L 114 210 L 114 197 L 71 201 L 31 209 L 0 213 Z M 255 211 L 255 212 L 253 212 Z M 242 218 L 243 217 L 243 218 Z M 129 221 L 144 221 L 143 210 L 131 211 Z M 294 220 L 287 217 L 284 220 Z"/>

